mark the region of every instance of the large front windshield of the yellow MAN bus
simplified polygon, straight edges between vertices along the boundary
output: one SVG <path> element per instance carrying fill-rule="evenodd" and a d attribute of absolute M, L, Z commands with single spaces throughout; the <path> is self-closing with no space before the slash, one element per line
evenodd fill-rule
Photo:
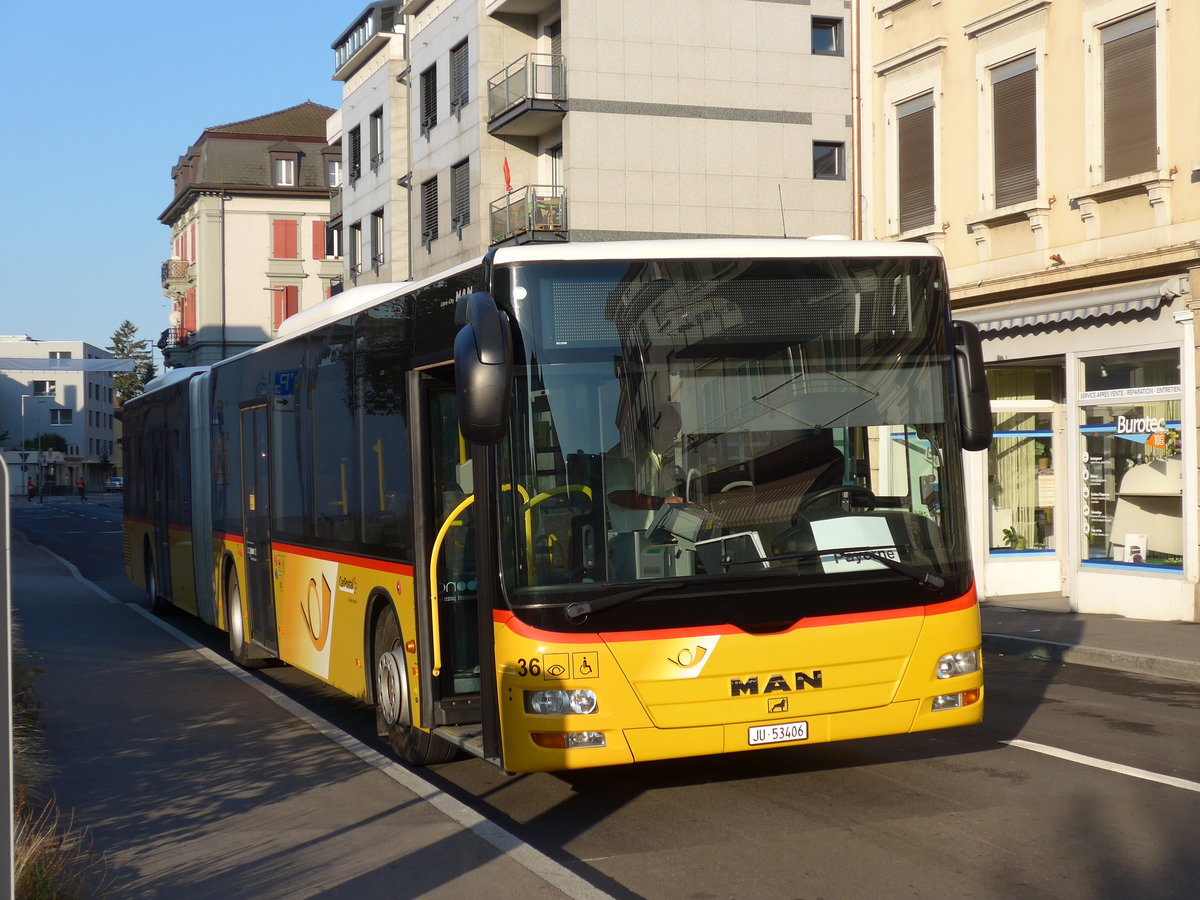
<path fill-rule="evenodd" d="M 500 475 L 515 607 L 647 582 L 829 588 L 916 571 L 938 575 L 932 588 L 966 570 L 938 260 L 498 276 L 516 318 Z"/>

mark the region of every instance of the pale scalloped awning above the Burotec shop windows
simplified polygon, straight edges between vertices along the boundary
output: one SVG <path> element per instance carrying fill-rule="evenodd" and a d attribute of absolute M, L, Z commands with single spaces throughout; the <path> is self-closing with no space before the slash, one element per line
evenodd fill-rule
<path fill-rule="evenodd" d="M 1104 318 L 1126 312 L 1157 310 L 1187 292 L 1180 278 L 1117 284 L 1094 290 L 1074 290 L 1036 300 L 956 310 L 954 317 L 974 323 L 980 331 L 1007 331 L 1015 328 L 1048 325 L 1056 322 Z"/>

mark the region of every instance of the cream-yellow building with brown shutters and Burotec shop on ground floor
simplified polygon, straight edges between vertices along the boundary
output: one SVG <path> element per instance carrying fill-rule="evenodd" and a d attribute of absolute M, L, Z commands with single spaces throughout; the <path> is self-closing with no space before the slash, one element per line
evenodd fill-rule
<path fill-rule="evenodd" d="M 865 229 L 983 332 L 984 595 L 1196 620 L 1200 4 L 859 7 Z"/>

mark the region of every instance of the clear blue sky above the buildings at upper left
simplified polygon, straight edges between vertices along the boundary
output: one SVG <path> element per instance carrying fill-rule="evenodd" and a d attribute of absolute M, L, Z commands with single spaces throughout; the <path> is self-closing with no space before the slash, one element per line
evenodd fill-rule
<path fill-rule="evenodd" d="M 156 341 L 172 166 L 205 127 L 341 106 L 329 44 L 365 6 L 4 4 L 0 334 L 107 347 L 130 319 Z"/>

